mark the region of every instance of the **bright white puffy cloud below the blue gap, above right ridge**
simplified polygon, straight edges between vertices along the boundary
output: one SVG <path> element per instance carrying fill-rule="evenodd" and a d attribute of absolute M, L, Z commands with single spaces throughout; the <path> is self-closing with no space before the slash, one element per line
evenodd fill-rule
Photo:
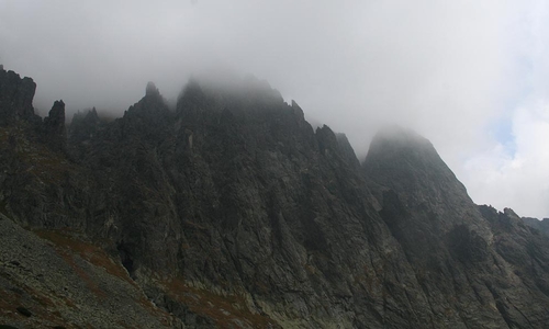
<path fill-rule="evenodd" d="M 549 217 L 549 103 L 519 107 L 512 122 L 513 151 L 496 143 L 466 161 L 469 192 L 498 208 L 514 204 L 523 216 Z"/>

